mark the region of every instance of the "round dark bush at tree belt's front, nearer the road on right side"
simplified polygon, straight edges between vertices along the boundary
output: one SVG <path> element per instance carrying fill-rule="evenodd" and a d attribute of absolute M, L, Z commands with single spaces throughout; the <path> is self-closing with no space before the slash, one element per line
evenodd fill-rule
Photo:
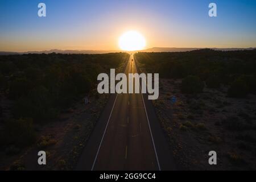
<path fill-rule="evenodd" d="M 197 76 L 188 76 L 182 80 L 181 92 L 196 94 L 202 92 L 204 89 L 204 82 Z"/>

